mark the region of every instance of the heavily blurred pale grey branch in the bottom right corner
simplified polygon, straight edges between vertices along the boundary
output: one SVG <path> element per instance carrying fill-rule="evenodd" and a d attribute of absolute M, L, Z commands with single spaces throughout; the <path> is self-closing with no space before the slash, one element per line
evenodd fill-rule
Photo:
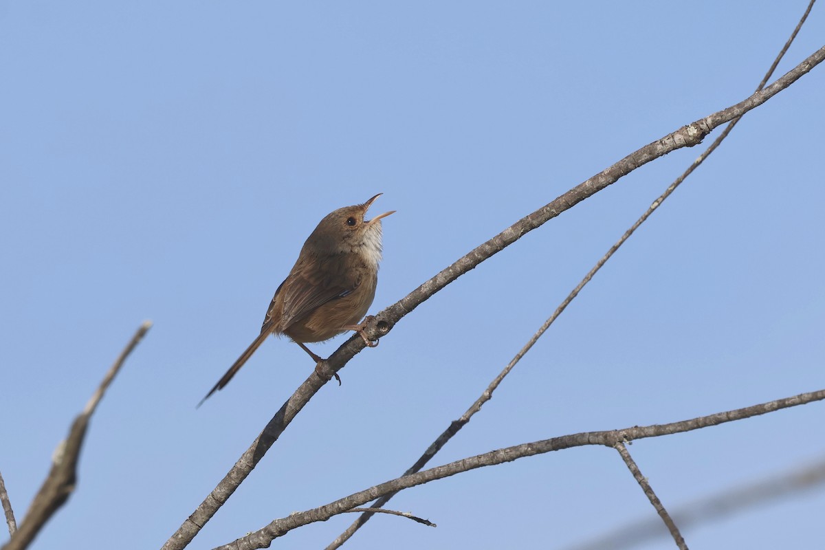
<path fill-rule="evenodd" d="M 820 459 L 805 468 L 794 466 L 787 472 L 775 474 L 765 480 L 748 483 L 721 491 L 673 511 L 674 521 L 682 529 L 706 521 L 718 521 L 726 515 L 747 510 L 753 506 L 774 501 L 783 496 L 810 491 L 825 483 L 825 459 Z M 615 529 L 568 550 L 619 550 L 630 548 L 663 534 L 657 519 L 641 519 Z"/>

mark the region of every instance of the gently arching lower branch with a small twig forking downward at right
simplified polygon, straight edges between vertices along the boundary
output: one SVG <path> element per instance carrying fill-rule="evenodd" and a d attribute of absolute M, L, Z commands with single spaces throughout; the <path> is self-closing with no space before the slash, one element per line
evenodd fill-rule
<path fill-rule="evenodd" d="M 801 393 L 794 397 L 785 397 L 783 399 L 777 399 L 776 401 L 753 405 L 752 407 L 744 407 L 733 411 L 724 411 L 713 415 L 700 416 L 687 421 L 672 422 L 670 424 L 662 425 L 633 426 L 631 428 L 625 428 L 624 430 L 582 432 L 580 434 L 563 435 L 561 437 L 554 437 L 549 440 L 515 445 L 513 447 L 507 447 L 506 449 L 497 449 L 490 451 L 489 453 L 463 458 L 443 466 L 436 466 L 436 468 L 430 468 L 429 470 L 423 470 L 422 472 L 413 473 L 408 476 L 398 477 L 398 479 L 381 483 L 380 485 L 370 487 L 365 491 L 356 492 L 327 505 L 314 508 L 313 510 L 294 512 L 286 518 L 276 519 L 266 525 L 266 527 L 258 529 L 254 533 L 247 534 L 245 537 L 238 538 L 232 543 L 217 547 L 215 550 L 253 550 L 255 548 L 269 548 L 273 540 L 289 533 L 292 529 L 296 529 L 316 521 L 326 521 L 333 515 L 342 514 L 347 512 L 347 510 L 352 510 L 356 506 L 374 501 L 376 498 L 392 492 L 422 485 L 423 483 L 435 481 L 436 479 L 454 476 L 457 473 L 468 472 L 469 470 L 474 470 L 476 468 L 494 466 L 496 464 L 512 462 L 518 458 L 549 453 L 551 451 L 558 451 L 561 449 L 570 449 L 572 447 L 581 447 L 583 445 L 606 445 L 607 447 L 615 447 L 616 444 L 625 443 L 627 441 L 699 430 L 700 428 L 705 428 L 707 426 L 738 421 L 743 418 L 763 415 L 768 412 L 778 411 L 788 407 L 797 407 L 810 402 L 822 401 L 823 399 L 825 399 L 825 389 L 818 390 L 817 392 Z"/>

